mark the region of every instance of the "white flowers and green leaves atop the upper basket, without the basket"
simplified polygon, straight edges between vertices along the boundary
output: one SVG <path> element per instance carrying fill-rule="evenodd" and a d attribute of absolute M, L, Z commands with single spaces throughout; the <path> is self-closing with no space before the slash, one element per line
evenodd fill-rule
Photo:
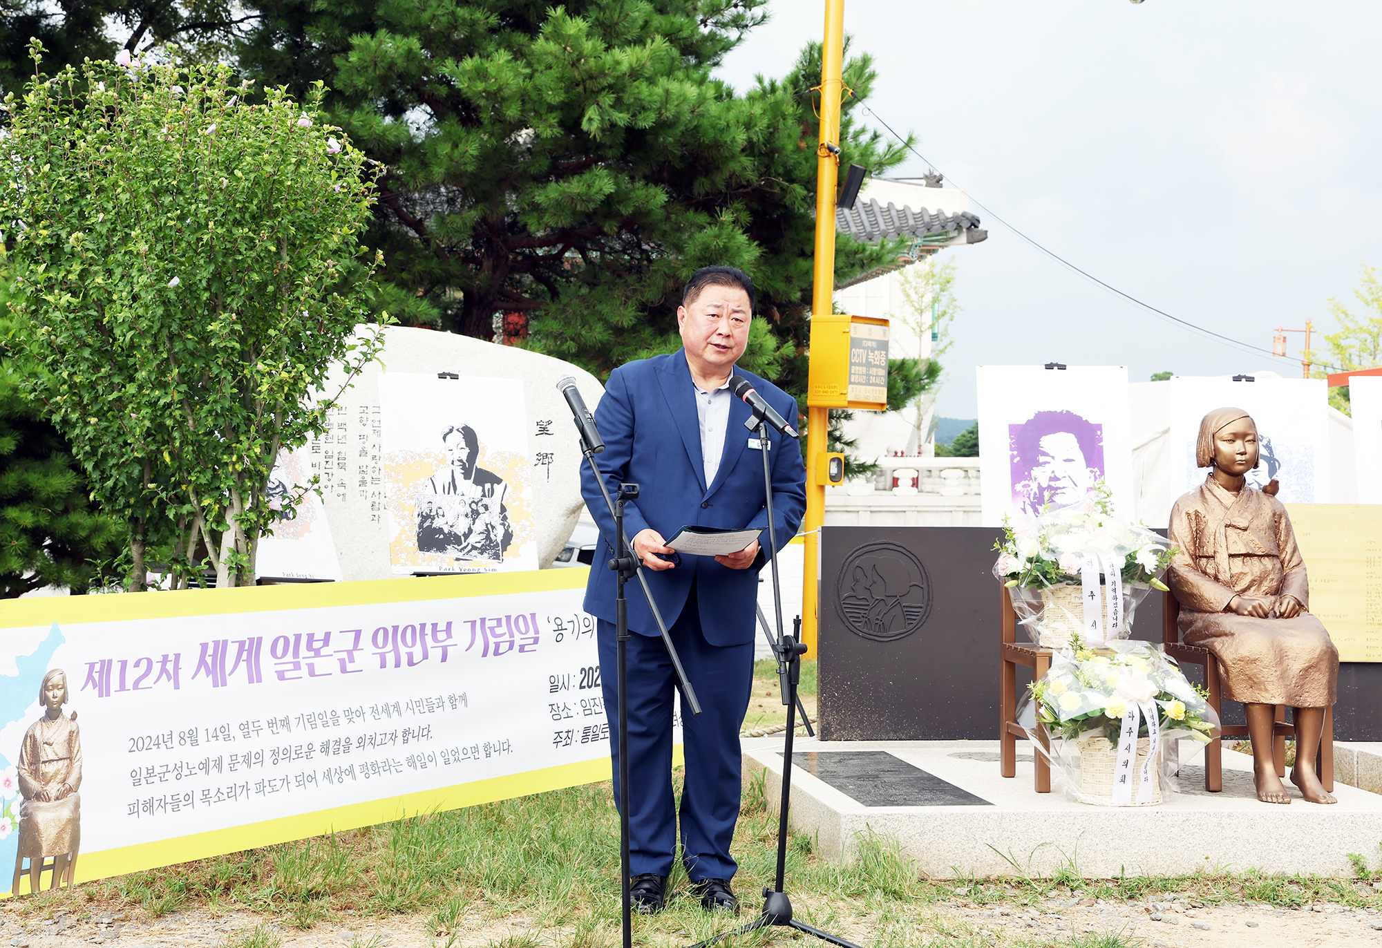
<path fill-rule="evenodd" d="M 1157 573 L 1166 568 L 1176 547 L 1146 527 L 1114 517 L 1113 493 L 1097 481 L 1079 503 L 1052 507 L 1035 520 L 1003 520 L 1003 538 L 994 543 L 1002 556 L 994 572 L 1007 586 L 1054 586 L 1079 582 L 1085 554 L 1103 553 L 1122 561 L 1129 585 L 1166 590 Z"/>

